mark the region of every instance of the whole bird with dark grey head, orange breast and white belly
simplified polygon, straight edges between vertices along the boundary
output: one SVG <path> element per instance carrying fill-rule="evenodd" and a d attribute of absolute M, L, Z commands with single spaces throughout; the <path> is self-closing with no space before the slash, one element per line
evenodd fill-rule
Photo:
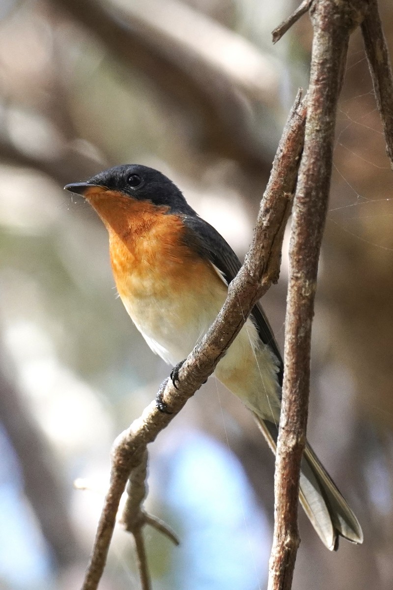
<path fill-rule="evenodd" d="M 82 195 L 107 228 L 120 299 L 151 350 L 174 366 L 176 385 L 181 362 L 209 330 L 226 299 L 241 266 L 239 258 L 180 189 L 153 168 L 118 165 L 64 188 Z M 253 412 L 275 453 L 283 360 L 259 302 L 214 374 Z M 309 442 L 299 499 L 328 549 L 338 548 L 339 537 L 362 543 L 358 519 Z"/>

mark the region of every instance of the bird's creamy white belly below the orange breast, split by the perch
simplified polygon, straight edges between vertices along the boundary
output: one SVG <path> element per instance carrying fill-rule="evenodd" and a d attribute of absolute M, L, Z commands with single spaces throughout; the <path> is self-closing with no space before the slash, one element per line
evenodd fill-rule
<path fill-rule="evenodd" d="M 206 286 L 205 286 L 206 287 Z M 216 319 L 227 294 L 222 283 L 199 290 L 177 291 L 167 295 L 133 299 L 124 306 L 154 353 L 170 365 L 185 359 Z M 269 349 L 260 343 L 251 320 L 220 360 L 214 372 L 217 379 L 262 418 L 279 417 L 278 363 Z"/>

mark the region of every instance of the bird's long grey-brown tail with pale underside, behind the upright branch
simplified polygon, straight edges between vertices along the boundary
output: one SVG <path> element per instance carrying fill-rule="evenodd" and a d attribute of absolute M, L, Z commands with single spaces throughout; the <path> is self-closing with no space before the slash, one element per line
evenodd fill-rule
<path fill-rule="evenodd" d="M 255 417 L 269 447 L 276 453 L 278 427 L 256 414 Z M 358 519 L 308 443 L 302 458 L 299 500 L 322 542 L 331 551 L 338 548 L 340 536 L 352 543 L 363 542 Z"/>

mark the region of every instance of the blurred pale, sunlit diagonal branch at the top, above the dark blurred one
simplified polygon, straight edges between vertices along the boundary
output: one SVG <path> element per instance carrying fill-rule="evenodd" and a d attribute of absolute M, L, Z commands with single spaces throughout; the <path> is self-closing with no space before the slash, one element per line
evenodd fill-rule
<path fill-rule="evenodd" d="M 278 100 L 278 73 L 272 58 L 263 55 L 244 37 L 179 0 L 130 2 L 111 0 L 130 30 L 165 55 L 209 95 L 217 90 L 269 106 Z M 210 87 L 210 78 L 213 87 Z M 220 101 L 227 96 L 220 97 Z"/>

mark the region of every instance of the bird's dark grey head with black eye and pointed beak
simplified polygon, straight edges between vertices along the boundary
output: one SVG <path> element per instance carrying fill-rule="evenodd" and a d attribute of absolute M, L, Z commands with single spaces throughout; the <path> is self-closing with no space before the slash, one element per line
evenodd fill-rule
<path fill-rule="evenodd" d="M 138 201 L 151 201 L 155 205 L 167 205 L 170 212 L 194 215 L 183 194 L 167 176 L 140 164 L 113 166 L 98 173 L 86 182 L 66 185 L 71 192 L 84 194 L 88 186 L 103 186 L 110 191 L 120 191 Z"/>

